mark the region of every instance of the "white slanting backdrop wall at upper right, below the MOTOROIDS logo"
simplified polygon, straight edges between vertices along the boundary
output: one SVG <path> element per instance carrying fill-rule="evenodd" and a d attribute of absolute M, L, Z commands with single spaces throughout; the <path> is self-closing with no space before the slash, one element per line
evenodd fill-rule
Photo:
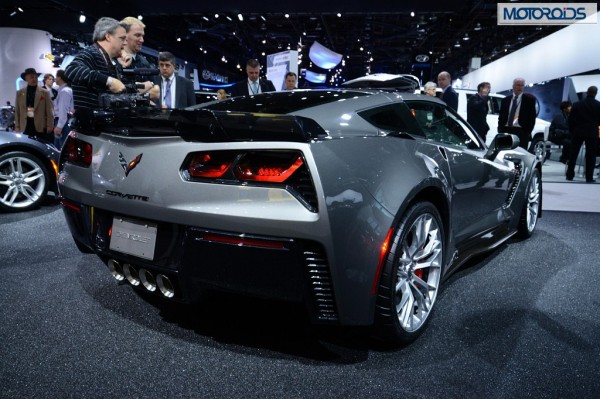
<path fill-rule="evenodd" d="M 600 24 L 573 24 L 466 74 L 462 84 L 477 89 L 490 82 L 500 92 L 511 89 L 516 77 L 529 84 L 588 72 L 600 68 L 599 50 Z"/>

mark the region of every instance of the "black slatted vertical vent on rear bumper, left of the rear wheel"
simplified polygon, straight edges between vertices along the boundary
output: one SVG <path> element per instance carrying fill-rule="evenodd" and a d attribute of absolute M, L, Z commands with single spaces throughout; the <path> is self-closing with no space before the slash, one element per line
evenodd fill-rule
<path fill-rule="evenodd" d="M 321 322 L 337 321 L 337 306 L 325 250 L 318 245 L 307 247 L 304 251 L 304 259 L 317 320 Z"/>

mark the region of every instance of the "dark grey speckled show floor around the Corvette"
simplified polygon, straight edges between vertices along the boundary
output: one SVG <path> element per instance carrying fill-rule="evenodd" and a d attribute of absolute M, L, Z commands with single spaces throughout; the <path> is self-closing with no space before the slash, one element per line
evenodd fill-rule
<path fill-rule="evenodd" d="M 292 304 L 156 301 L 79 253 L 56 201 L 0 213 L 0 397 L 597 397 L 600 185 L 558 167 L 533 237 L 451 276 L 396 349 Z"/>

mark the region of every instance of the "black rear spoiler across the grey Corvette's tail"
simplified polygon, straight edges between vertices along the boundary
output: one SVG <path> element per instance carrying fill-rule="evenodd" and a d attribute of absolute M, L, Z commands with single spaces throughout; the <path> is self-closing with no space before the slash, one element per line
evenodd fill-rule
<path fill-rule="evenodd" d="M 180 136 L 196 142 L 310 142 L 328 136 L 317 122 L 301 116 L 207 109 L 96 110 L 78 121 L 75 128 L 89 135 Z"/>

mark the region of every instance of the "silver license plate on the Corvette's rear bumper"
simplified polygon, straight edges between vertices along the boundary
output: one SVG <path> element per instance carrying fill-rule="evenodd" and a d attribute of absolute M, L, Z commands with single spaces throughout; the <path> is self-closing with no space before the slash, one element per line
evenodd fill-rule
<path fill-rule="evenodd" d="M 141 220 L 113 218 L 110 249 L 154 260 L 157 225 Z"/>

